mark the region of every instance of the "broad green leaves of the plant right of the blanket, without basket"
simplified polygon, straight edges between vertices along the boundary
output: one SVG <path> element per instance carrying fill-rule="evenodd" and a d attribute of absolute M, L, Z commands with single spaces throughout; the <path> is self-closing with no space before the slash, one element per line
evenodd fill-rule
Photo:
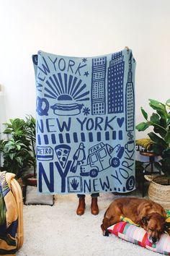
<path fill-rule="evenodd" d="M 146 111 L 141 108 L 146 121 L 138 124 L 136 129 L 140 132 L 153 127 L 153 132 L 148 133 L 148 137 L 153 141 L 151 149 L 161 157 L 155 166 L 170 177 L 170 99 L 166 103 L 150 99 L 149 105 L 154 110 L 153 114 L 148 117 Z"/>

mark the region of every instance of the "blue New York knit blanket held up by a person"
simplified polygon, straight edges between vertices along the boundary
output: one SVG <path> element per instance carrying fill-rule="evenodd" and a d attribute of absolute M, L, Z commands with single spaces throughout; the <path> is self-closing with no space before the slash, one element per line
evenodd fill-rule
<path fill-rule="evenodd" d="M 135 59 L 38 51 L 38 189 L 45 194 L 135 189 Z"/>

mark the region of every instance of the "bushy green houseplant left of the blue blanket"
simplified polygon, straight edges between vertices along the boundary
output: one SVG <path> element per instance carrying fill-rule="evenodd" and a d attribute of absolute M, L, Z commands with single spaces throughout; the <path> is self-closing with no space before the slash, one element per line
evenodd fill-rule
<path fill-rule="evenodd" d="M 4 158 L 2 169 L 16 174 L 17 179 L 24 177 L 27 168 L 33 166 L 36 175 L 35 161 L 35 119 L 27 116 L 24 119 L 9 119 L 4 124 L 3 133 L 6 140 L 0 140 L 0 153 Z"/>

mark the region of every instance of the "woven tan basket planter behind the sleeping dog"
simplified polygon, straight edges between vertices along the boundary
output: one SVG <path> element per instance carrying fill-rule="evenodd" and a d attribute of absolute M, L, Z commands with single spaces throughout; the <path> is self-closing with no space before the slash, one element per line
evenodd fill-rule
<path fill-rule="evenodd" d="M 145 178 L 150 182 L 148 197 L 153 202 L 158 202 L 164 209 L 170 209 L 170 179 L 164 175 L 145 175 Z"/>

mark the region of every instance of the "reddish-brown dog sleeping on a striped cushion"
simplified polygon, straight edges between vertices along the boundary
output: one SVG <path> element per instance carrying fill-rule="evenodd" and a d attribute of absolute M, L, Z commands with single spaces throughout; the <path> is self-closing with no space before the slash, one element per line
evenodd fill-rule
<path fill-rule="evenodd" d="M 104 235 L 109 226 L 120 222 L 120 216 L 142 226 L 153 244 L 158 242 L 166 229 L 166 212 L 161 205 L 143 198 L 122 197 L 114 200 L 104 214 L 101 225 Z"/>

